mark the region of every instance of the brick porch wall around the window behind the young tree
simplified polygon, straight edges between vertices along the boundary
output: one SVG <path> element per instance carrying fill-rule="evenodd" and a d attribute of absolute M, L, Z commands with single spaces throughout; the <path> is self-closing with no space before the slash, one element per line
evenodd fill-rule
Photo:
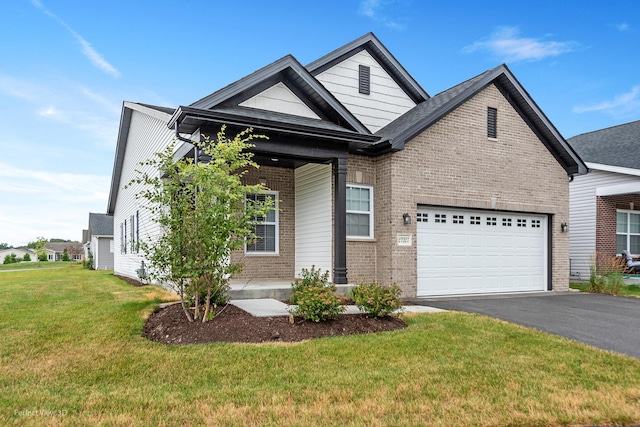
<path fill-rule="evenodd" d="M 261 166 L 251 169 L 245 175 L 244 182 L 258 184 L 264 182 L 273 191 L 278 191 L 279 212 L 279 254 L 247 255 L 236 251 L 231 255 L 232 262 L 242 262 L 244 269 L 234 279 L 284 279 L 291 280 L 295 275 L 295 200 L 293 169 Z"/>

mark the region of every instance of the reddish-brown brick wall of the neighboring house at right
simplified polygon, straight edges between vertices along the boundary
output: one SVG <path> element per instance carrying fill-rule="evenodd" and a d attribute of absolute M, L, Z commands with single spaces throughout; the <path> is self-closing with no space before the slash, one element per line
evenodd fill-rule
<path fill-rule="evenodd" d="M 630 203 L 633 203 L 631 209 Z M 617 211 L 640 210 L 639 194 L 596 197 L 596 254 L 613 257 L 617 253 Z"/>

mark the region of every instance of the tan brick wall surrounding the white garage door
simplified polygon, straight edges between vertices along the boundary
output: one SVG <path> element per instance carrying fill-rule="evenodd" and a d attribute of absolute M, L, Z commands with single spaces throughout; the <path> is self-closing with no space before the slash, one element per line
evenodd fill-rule
<path fill-rule="evenodd" d="M 487 138 L 487 107 L 498 110 L 498 137 Z M 377 160 L 378 280 L 415 296 L 415 211 L 420 204 L 550 214 L 552 286 L 569 284 L 567 174 L 500 91 L 490 85 L 409 141 L 403 151 Z M 402 214 L 412 215 L 405 226 Z M 411 233 L 413 246 L 396 246 Z"/>

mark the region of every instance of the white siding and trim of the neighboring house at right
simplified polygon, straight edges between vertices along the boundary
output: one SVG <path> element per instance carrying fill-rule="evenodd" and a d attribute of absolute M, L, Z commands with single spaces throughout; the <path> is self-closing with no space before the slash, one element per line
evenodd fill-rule
<path fill-rule="evenodd" d="M 589 268 L 596 252 L 596 191 L 620 184 L 637 184 L 640 178 L 591 169 L 569 184 L 569 257 L 571 275 L 589 279 Z"/>

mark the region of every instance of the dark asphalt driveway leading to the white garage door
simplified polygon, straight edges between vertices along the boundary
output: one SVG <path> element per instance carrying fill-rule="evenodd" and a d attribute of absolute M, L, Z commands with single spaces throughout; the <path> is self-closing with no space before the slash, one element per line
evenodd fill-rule
<path fill-rule="evenodd" d="M 479 313 L 640 359 L 640 299 L 578 292 L 415 299 Z"/>

